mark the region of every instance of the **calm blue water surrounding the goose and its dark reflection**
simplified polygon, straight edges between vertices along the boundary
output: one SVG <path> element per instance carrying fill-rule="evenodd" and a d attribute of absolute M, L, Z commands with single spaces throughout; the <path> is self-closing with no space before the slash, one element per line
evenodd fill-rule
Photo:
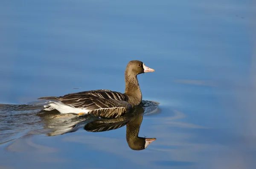
<path fill-rule="evenodd" d="M 0 169 L 255 169 L 255 6 L 1 0 Z M 127 119 L 91 132 L 101 119 L 38 114 L 38 97 L 124 92 L 130 60 L 155 69 L 138 76 L 160 103 L 141 107 L 146 149 L 128 146 Z"/>

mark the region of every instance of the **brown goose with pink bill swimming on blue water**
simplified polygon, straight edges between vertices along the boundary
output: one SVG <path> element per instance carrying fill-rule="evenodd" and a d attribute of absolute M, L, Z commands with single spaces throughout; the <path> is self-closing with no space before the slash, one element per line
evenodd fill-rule
<path fill-rule="evenodd" d="M 131 112 L 134 106 L 141 103 L 138 74 L 154 72 L 142 61 L 131 60 L 125 69 L 125 92 L 114 92 L 107 89 L 89 90 L 71 93 L 64 96 L 40 97 L 39 100 L 48 100 L 44 105 L 45 111 L 77 115 L 92 114 L 99 117 L 116 118 Z"/>

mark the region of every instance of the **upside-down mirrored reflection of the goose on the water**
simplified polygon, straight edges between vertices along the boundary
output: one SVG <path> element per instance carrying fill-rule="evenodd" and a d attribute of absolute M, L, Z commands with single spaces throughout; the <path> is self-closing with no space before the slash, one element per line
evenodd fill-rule
<path fill-rule="evenodd" d="M 158 103 L 144 101 L 135 106 L 132 113 L 118 118 L 99 118 L 92 115 L 46 115 L 46 128 L 53 131 L 47 133 L 48 136 L 62 135 L 65 133 L 76 132 L 83 128 L 87 132 L 106 132 L 119 129 L 126 125 L 126 141 L 132 150 L 143 150 L 156 138 L 139 137 L 140 126 L 143 121 L 143 115 L 159 111 Z"/>

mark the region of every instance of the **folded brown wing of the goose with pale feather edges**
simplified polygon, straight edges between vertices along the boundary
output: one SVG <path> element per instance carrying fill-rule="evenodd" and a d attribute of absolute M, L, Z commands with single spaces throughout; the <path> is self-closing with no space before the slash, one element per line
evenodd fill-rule
<path fill-rule="evenodd" d="M 56 100 L 76 109 L 85 109 L 102 117 L 119 117 L 132 108 L 131 104 L 127 102 L 128 96 L 120 92 L 103 89 L 38 99 Z"/>

